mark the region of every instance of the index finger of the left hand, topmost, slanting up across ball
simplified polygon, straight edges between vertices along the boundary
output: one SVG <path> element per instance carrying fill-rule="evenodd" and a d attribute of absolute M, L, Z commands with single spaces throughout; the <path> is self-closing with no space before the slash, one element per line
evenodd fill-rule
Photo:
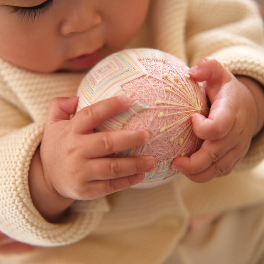
<path fill-rule="evenodd" d="M 88 133 L 107 118 L 128 110 L 131 103 L 132 101 L 128 96 L 122 95 L 87 106 L 72 118 L 73 129 L 80 134 Z"/>

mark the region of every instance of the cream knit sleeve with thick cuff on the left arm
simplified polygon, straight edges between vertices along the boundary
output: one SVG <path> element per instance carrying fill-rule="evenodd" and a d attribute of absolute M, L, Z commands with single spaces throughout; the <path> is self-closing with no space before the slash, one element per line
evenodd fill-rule
<path fill-rule="evenodd" d="M 1 94 L 5 88 L 0 89 Z M 12 93 L 5 99 L 0 96 L 0 231 L 37 246 L 79 241 L 97 227 L 108 211 L 106 199 L 75 202 L 61 223 L 49 223 L 39 214 L 31 200 L 28 171 L 41 142 L 44 123 L 33 122 L 26 111 L 14 106 L 15 99 L 7 100 L 11 96 Z"/>

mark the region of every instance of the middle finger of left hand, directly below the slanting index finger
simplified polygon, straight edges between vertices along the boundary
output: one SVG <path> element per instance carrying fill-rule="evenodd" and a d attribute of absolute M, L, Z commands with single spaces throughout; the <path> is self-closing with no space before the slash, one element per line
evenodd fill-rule
<path fill-rule="evenodd" d="M 82 152 L 86 158 L 97 158 L 115 152 L 124 151 L 149 142 L 149 133 L 145 130 L 117 130 L 83 135 Z M 92 150 L 92 151 L 91 151 Z"/>

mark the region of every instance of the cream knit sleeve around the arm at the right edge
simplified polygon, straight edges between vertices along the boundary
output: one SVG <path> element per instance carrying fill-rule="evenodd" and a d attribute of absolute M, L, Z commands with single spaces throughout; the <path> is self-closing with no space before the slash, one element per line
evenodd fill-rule
<path fill-rule="evenodd" d="M 191 66 L 211 56 L 233 74 L 251 77 L 264 85 L 263 21 L 253 1 L 191 0 L 188 17 L 186 44 Z M 237 168 L 253 167 L 263 159 L 262 130 Z"/>

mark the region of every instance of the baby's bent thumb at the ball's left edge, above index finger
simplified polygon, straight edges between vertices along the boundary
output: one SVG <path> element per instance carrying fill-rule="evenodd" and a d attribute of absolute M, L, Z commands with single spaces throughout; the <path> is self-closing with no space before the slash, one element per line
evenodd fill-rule
<path fill-rule="evenodd" d="M 48 109 L 48 124 L 55 123 L 60 120 L 68 120 L 75 113 L 78 104 L 78 97 L 56 97 L 54 98 Z"/>

